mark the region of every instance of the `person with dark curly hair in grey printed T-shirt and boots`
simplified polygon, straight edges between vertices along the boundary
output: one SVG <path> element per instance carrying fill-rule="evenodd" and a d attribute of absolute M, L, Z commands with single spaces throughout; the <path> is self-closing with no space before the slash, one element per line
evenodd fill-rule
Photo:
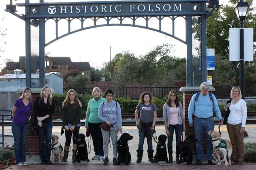
<path fill-rule="evenodd" d="M 154 103 L 151 103 L 153 96 L 149 92 L 144 92 L 140 95 L 140 103 L 137 105 L 135 111 L 136 124 L 139 129 L 139 148 L 137 150 L 137 163 L 140 163 L 143 157 L 143 144 L 145 137 L 148 143 L 148 161 L 154 163 L 153 159 L 153 145 L 152 136 L 155 130 L 155 124 L 157 120 L 157 107 Z M 138 119 L 138 113 L 140 111 L 140 121 Z"/>

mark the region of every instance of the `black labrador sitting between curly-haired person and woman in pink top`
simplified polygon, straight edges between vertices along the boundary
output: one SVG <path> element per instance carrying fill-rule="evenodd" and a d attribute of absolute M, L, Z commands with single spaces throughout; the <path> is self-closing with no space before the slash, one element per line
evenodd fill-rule
<path fill-rule="evenodd" d="M 166 150 L 166 135 L 160 135 L 158 136 L 158 142 L 157 142 L 157 152 L 154 156 L 154 161 L 166 161 L 166 163 L 169 162 L 168 156 L 167 156 L 167 150 Z"/>

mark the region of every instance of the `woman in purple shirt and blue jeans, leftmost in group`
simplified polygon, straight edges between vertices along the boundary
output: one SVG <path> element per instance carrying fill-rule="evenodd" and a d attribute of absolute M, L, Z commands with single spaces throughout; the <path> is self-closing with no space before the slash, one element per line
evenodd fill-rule
<path fill-rule="evenodd" d="M 26 136 L 28 133 L 28 115 L 33 103 L 30 101 L 31 88 L 24 88 L 22 95 L 12 108 L 12 134 L 14 137 L 14 153 L 18 166 L 26 163 Z"/>

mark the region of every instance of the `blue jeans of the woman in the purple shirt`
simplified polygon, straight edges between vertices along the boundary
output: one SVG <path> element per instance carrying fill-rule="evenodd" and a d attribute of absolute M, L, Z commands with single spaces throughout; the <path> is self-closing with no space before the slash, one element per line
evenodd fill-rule
<path fill-rule="evenodd" d="M 14 153 L 16 163 L 26 162 L 26 136 L 28 134 L 28 124 L 12 124 L 12 134 L 14 137 Z"/>

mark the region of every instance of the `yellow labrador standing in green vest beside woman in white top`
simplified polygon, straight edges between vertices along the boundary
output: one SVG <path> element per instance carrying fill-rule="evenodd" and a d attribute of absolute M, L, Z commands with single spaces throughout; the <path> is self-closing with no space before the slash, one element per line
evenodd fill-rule
<path fill-rule="evenodd" d="M 218 165 L 221 165 L 220 153 L 222 153 L 224 156 L 225 165 L 226 166 L 228 164 L 231 165 L 230 158 L 231 158 L 231 154 L 233 151 L 232 144 L 226 139 L 222 140 L 221 134 L 217 131 L 208 130 L 207 133 L 209 136 L 212 137 L 213 148 L 218 157 Z M 228 162 L 227 162 L 227 158 L 226 158 L 227 156 L 228 156 Z"/>

